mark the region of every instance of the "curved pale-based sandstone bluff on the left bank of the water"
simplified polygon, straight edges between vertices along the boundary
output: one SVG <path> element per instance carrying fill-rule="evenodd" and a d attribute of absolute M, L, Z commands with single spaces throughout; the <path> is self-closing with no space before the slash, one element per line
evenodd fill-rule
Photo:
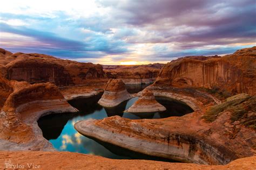
<path fill-rule="evenodd" d="M 0 150 L 6 147 L 9 150 L 52 150 L 37 120 L 46 114 L 77 112 L 77 109 L 66 102 L 54 84 L 4 81 L 9 83 L 11 93 L 0 113 Z"/>

